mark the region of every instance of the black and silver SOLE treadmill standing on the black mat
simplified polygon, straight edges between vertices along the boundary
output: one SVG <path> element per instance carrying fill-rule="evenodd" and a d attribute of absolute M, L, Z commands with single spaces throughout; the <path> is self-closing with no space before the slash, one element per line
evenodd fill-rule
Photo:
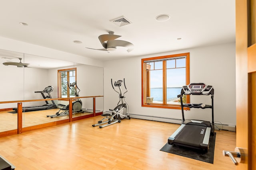
<path fill-rule="evenodd" d="M 183 104 L 183 95 L 209 95 L 212 99 L 212 105 Z M 188 86 L 182 87 L 181 93 L 178 97 L 180 98 L 181 103 L 182 123 L 180 127 L 168 138 L 168 144 L 200 149 L 204 152 L 208 152 L 210 135 L 214 135 L 213 86 L 209 86 L 204 83 L 191 83 Z M 210 123 L 210 121 L 185 119 L 184 107 L 212 109 L 212 123 Z"/>

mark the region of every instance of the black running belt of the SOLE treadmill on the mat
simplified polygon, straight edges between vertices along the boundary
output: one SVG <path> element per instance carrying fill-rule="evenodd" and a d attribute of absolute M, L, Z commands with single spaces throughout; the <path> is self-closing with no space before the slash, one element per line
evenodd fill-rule
<path fill-rule="evenodd" d="M 200 147 L 204 139 L 206 127 L 186 124 L 180 133 L 174 139 L 174 144 L 189 145 Z"/>

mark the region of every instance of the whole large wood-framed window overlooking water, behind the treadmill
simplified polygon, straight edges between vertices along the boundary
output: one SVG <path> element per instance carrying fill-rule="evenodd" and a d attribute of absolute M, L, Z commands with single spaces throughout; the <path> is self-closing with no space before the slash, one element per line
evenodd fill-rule
<path fill-rule="evenodd" d="M 189 53 L 146 58 L 141 64 L 142 106 L 180 109 L 177 96 L 189 84 Z M 182 100 L 189 103 L 190 98 Z"/>

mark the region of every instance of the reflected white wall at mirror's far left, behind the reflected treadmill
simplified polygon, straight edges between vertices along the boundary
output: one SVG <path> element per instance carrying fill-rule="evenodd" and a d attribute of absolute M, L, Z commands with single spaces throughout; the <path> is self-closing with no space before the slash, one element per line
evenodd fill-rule
<path fill-rule="evenodd" d="M 41 99 L 40 93 L 48 85 L 47 70 L 38 68 L 18 68 L 0 65 L 0 101 Z M 26 106 L 45 104 L 45 102 L 26 102 Z M 1 104 L 0 108 L 17 107 L 16 103 Z"/>

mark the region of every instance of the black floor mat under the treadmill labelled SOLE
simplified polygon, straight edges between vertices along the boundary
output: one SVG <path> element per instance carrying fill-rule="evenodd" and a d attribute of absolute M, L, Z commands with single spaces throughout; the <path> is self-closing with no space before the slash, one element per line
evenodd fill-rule
<path fill-rule="evenodd" d="M 168 143 L 166 143 L 164 147 L 162 147 L 162 149 L 160 150 L 213 164 L 215 139 L 216 139 L 216 133 L 214 133 L 214 136 L 210 135 L 210 146 L 209 146 L 208 152 L 206 153 L 202 152 L 199 149 L 191 149 L 191 148 L 181 147 L 177 145 L 173 146 L 173 145 L 169 145 Z"/>

